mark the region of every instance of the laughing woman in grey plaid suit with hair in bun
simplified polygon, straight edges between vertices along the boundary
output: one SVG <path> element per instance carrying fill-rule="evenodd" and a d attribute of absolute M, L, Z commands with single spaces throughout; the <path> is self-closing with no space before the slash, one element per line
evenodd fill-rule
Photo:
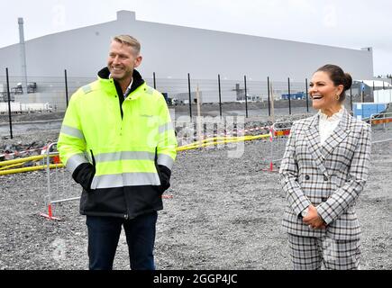
<path fill-rule="evenodd" d="M 279 174 L 294 269 L 359 268 L 355 202 L 368 179 L 371 129 L 342 104 L 351 84 L 341 67 L 317 69 L 309 94 L 319 112 L 294 121 L 287 140 Z"/>

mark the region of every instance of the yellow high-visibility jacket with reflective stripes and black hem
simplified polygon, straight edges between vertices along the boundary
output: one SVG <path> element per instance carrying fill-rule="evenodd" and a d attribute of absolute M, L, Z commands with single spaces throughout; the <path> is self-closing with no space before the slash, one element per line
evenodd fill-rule
<path fill-rule="evenodd" d="M 177 139 L 162 94 L 146 85 L 136 70 L 133 82 L 141 85 L 120 105 L 123 94 L 117 93 L 119 85 L 104 68 L 68 103 L 58 150 L 78 183 L 88 182 L 84 177 L 91 175 L 80 199 L 82 214 L 132 219 L 163 208 L 158 167 L 171 173 Z M 86 166 L 89 174 L 76 173 Z"/>

